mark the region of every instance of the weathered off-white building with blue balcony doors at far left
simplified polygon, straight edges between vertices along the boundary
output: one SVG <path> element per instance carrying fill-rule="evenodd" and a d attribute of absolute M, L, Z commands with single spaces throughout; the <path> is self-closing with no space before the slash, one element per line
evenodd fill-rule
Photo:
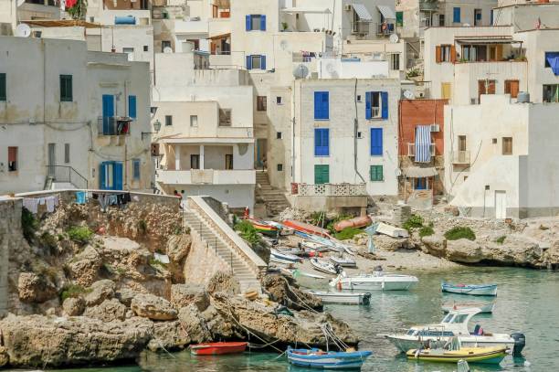
<path fill-rule="evenodd" d="M 73 40 L 0 37 L 0 49 L 2 192 L 151 187 L 147 63 Z"/>

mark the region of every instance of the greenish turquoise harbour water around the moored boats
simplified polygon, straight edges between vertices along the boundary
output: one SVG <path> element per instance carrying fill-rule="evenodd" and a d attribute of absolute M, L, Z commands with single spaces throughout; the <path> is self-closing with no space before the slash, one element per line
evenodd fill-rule
<path fill-rule="evenodd" d="M 408 362 L 396 348 L 378 338 L 385 333 L 412 324 L 438 323 L 440 305 L 452 298 L 479 300 L 479 297 L 443 295 L 442 280 L 456 282 L 495 282 L 499 284 L 497 305 L 493 314 L 482 314 L 473 320 L 486 331 L 526 335 L 522 358 L 507 356 L 498 367 L 470 365 L 475 371 L 559 371 L 559 272 L 530 271 L 510 268 L 466 268 L 459 271 L 422 273 L 417 288 L 410 292 L 374 292 L 368 306 L 329 305 L 327 310 L 350 324 L 362 337 L 360 348 L 373 350 L 364 371 L 433 372 L 453 371 L 456 366 L 425 362 Z M 313 288 L 326 288 L 324 281 L 300 279 Z M 473 327 L 474 324 L 470 324 Z M 285 357 L 272 353 L 245 353 L 242 356 L 200 357 L 187 352 L 145 353 L 137 367 L 86 368 L 79 372 L 148 371 L 306 371 L 291 367 Z M 67 370 L 68 371 L 68 370 Z"/>

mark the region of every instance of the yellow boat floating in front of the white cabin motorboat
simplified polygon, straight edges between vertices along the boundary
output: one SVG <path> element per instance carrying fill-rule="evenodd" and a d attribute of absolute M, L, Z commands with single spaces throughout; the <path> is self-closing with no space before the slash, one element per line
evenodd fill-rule
<path fill-rule="evenodd" d="M 466 360 L 469 363 L 499 364 L 507 356 L 507 348 L 502 346 L 459 347 L 458 350 L 445 349 L 411 349 L 406 353 L 408 359 L 428 362 L 458 363 Z"/>

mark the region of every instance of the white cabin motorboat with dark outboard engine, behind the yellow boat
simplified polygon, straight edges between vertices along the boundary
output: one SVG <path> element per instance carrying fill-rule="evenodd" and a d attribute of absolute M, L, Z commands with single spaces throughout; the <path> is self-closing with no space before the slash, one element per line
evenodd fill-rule
<path fill-rule="evenodd" d="M 522 352 L 525 345 L 522 334 L 494 334 L 483 331 L 479 324 L 474 332 L 469 332 L 469 320 L 480 309 L 469 308 L 449 312 L 439 324 L 415 325 L 405 334 L 381 335 L 390 340 L 402 352 L 422 347 L 427 341 L 430 343 L 448 342 L 451 337 L 458 336 L 463 346 L 497 346 L 504 345 L 514 351 L 515 355 Z"/>

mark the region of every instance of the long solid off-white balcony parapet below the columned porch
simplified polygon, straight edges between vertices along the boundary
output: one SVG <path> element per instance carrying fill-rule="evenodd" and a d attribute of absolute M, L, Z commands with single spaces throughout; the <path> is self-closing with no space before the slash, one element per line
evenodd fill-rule
<path fill-rule="evenodd" d="M 166 185 L 255 185 L 253 169 L 158 169 L 157 182 Z"/>

